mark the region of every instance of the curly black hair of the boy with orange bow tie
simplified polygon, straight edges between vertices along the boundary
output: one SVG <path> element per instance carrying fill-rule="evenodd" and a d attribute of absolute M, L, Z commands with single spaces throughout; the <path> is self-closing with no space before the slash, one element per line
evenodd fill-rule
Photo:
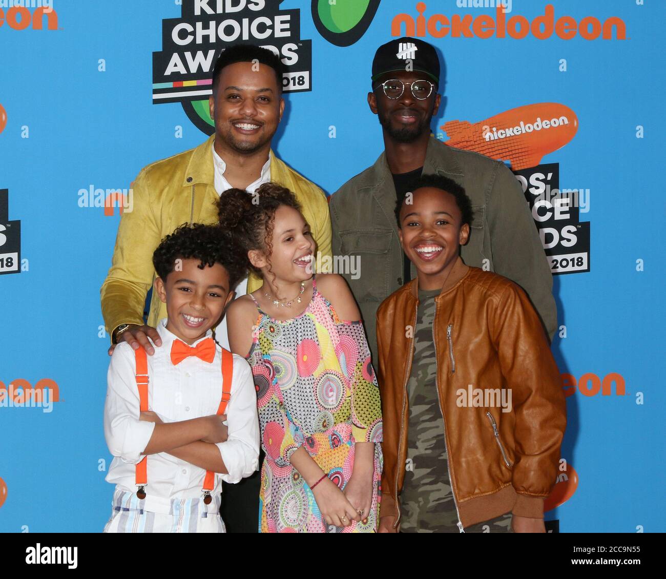
<path fill-rule="evenodd" d="M 176 259 L 198 259 L 199 269 L 219 263 L 229 275 L 230 290 L 247 275 L 242 249 L 219 225 L 184 223 L 167 235 L 153 253 L 155 271 L 163 281 L 174 271 Z"/>

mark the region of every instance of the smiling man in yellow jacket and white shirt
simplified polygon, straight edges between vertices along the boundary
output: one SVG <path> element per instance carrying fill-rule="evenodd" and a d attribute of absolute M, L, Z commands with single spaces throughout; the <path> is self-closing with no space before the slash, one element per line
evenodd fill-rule
<path fill-rule="evenodd" d="M 215 203 L 230 187 L 246 189 L 250 195 L 263 183 L 274 181 L 293 191 L 318 251 L 330 255 L 326 195 L 270 149 L 283 111 L 280 58 L 251 45 L 225 49 L 212 73 L 210 116 L 215 134 L 190 151 L 148 165 L 133 185 L 131 211 L 123 212 L 112 266 L 101 289 L 102 314 L 112 342 L 109 354 L 123 340 L 135 349 L 143 345 L 150 355 L 155 352 L 153 344 L 161 346 L 155 326 L 166 317 L 166 306 L 157 292 L 147 322 L 143 319 L 146 296 L 156 277 L 153 252 L 179 225 L 216 223 Z M 260 285 L 260 278 L 250 273 L 236 294 L 252 292 Z M 224 320 L 216 337 L 228 348 Z M 224 487 L 222 518 L 232 532 L 256 532 L 256 474 Z"/>

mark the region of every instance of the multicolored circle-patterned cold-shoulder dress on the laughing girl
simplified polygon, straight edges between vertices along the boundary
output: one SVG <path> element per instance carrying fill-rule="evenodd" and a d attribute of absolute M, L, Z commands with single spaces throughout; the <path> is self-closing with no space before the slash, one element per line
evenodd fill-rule
<path fill-rule="evenodd" d="M 250 295 L 251 296 L 251 295 Z M 254 296 L 251 296 L 254 300 Z M 375 444 L 372 508 L 348 527 L 328 526 L 308 484 L 289 462 L 304 446 L 344 489 L 355 442 L 382 441 L 382 408 L 362 322 L 338 318 L 317 291 L 290 320 L 259 315 L 247 356 L 257 390 L 262 447 L 259 532 L 375 532 L 382 450 Z"/>

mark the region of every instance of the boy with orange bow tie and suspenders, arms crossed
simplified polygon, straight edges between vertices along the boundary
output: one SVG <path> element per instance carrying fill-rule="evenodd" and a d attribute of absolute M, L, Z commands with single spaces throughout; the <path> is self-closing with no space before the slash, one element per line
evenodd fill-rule
<path fill-rule="evenodd" d="M 119 344 L 104 430 L 116 485 L 105 532 L 224 532 L 222 480 L 256 470 L 259 427 L 250 366 L 212 328 L 246 272 L 218 226 L 180 227 L 153 255 L 167 317 L 147 356 Z"/>

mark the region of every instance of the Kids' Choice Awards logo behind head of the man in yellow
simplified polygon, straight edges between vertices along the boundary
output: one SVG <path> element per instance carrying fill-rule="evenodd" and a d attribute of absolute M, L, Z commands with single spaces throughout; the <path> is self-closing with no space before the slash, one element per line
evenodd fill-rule
<path fill-rule="evenodd" d="M 181 103 L 206 135 L 210 76 L 220 52 L 247 43 L 272 50 L 286 69 L 284 91 L 312 90 L 312 41 L 300 38 L 300 10 L 282 0 L 182 0 L 180 18 L 163 20 L 162 50 L 153 53 L 153 103 Z"/>

